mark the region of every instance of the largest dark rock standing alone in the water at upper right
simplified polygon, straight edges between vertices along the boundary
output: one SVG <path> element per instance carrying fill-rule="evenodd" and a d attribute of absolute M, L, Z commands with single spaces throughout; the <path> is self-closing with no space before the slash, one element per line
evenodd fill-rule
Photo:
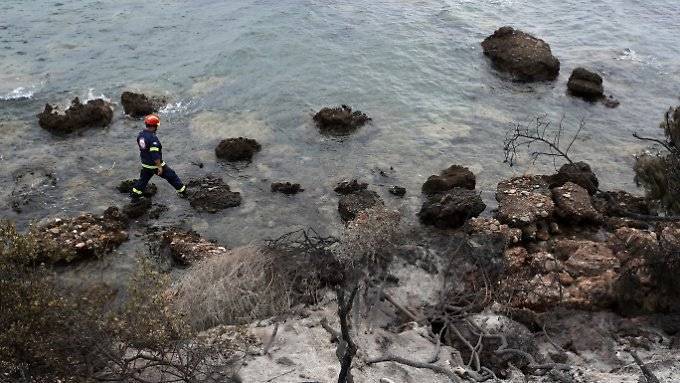
<path fill-rule="evenodd" d="M 482 48 L 496 68 L 521 81 L 554 80 L 560 72 L 560 60 L 548 43 L 512 27 L 499 28 Z"/>

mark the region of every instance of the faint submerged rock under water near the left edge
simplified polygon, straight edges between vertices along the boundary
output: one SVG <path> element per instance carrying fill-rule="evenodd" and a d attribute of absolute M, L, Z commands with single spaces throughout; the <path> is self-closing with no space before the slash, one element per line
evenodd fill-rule
<path fill-rule="evenodd" d="M 39 208 L 49 201 L 49 191 L 56 185 L 56 175 L 47 168 L 27 167 L 16 171 L 9 205 L 17 213 Z"/>

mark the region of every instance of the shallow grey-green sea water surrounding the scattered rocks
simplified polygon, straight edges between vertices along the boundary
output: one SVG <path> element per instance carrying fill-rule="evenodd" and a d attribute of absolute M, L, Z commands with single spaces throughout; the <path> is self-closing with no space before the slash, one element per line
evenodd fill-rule
<path fill-rule="evenodd" d="M 299 226 L 341 227 L 332 186 L 372 183 L 388 206 L 415 221 L 420 185 L 453 163 L 470 166 L 493 205 L 502 177 L 552 166 L 502 163 L 508 124 L 547 113 L 568 126 L 584 118 L 574 157 L 590 162 L 605 188 L 635 190 L 633 131 L 658 135 L 663 112 L 679 104 L 680 3 L 675 0 L 571 1 L 23 1 L 0 3 L 0 191 L 11 174 L 48 165 L 54 198 L 18 215 L 101 211 L 125 197 L 113 187 L 138 172 L 138 121 L 116 109 L 106 129 L 57 138 L 35 114 L 74 96 L 119 101 L 123 90 L 167 95 L 160 136 L 166 160 L 188 179 L 208 172 L 241 191 L 244 203 L 195 214 L 162 181 L 161 224 L 183 224 L 239 245 Z M 495 73 L 479 43 L 510 24 L 548 41 L 562 62 L 557 81 L 517 84 Z M 617 109 L 565 94 L 576 66 L 603 74 Z M 343 139 L 319 134 L 315 110 L 353 105 L 374 122 Z M 249 136 L 263 145 L 253 163 L 215 161 L 219 139 Z M 204 169 L 190 163 L 203 162 Z M 394 170 L 389 170 L 392 167 Z M 379 170 L 389 177 L 383 177 Z M 302 183 L 295 197 L 271 181 Z M 408 188 L 403 200 L 386 186 Z M 385 186 L 383 186 L 385 185 Z"/>

